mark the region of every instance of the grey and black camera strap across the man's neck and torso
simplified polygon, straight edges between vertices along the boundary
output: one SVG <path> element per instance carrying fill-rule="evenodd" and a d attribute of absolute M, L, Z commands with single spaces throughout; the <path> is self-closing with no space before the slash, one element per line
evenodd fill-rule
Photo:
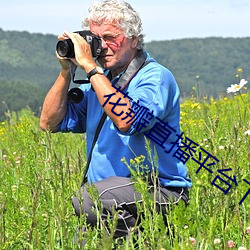
<path fill-rule="evenodd" d="M 144 54 L 143 50 L 139 50 L 136 57 L 131 61 L 128 68 L 125 70 L 125 72 L 119 78 L 119 80 L 116 83 L 115 87 L 120 88 L 121 91 L 123 91 L 128 86 L 128 84 L 133 79 L 133 77 L 136 75 L 136 73 L 141 68 L 146 66 L 149 62 L 150 61 L 146 61 L 146 55 Z M 89 83 L 89 81 L 88 81 L 88 83 Z M 95 143 L 96 143 L 96 141 L 98 139 L 98 136 L 100 134 L 100 131 L 102 129 L 102 126 L 103 126 L 103 124 L 104 124 L 104 122 L 106 120 L 106 117 L 107 117 L 107 114 L 104 112 L 102 114 L 102 117 L 101 117 L 98 125 L 97 125 L 95 136 L 94 136 L 94 139 L 92 141 L 90 153 L 89 153 L 88 160 L 87 160 L 87 163 L 86 163 L 86 167 L 85 167 L 85 170 L 84 170 L 84 175 L 83 175 L 83 180 L 82 180 L 81 186 L 83 186 L 87 182 L 87 174 L 88 174 L 89 164 L 90 164 L 90 161 L 91 161 L 91 158 L 92 158 L 92 152 L 93 152 Z"/>

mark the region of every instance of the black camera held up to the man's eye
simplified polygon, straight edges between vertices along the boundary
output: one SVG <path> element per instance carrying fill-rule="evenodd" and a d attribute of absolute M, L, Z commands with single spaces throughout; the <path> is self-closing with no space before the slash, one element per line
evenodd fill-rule
<path fill-rule="evenodd" d="M 102 40 L 99 37 L 95 36 L 90 30 L 75 31 L 74 33 L 78 33 L 87 41 L 93 57 L 98 57 L 101 54 Z M 74 44 L 70 39 L 58 41 L 56 51 L 61 57 L 75 57 Z"/>

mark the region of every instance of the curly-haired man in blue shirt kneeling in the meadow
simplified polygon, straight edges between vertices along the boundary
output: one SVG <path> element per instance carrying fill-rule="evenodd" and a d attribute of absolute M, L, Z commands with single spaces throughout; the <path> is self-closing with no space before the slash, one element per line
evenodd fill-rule
<path fill-rule="evenodd" d="M 102 69 L 82 36 L 70 32 L 60 36 L 60 40 L 71 39 L 75 58 L 57 55 L 62 69 L 45 98 L 40 126 L 52 132 L 86 132 L 87 155 L 91 159 L 87 181 L 98 190 L 103 220 L 108 215 L 112 219 L 114 209 L 119 210 L 115 237 L 120 237 L 135 226 L 136 202 L 141 201 L 130 178 L 130 169 L 121 162 L 122 158 L 129 163 L 136 156 L 144 155 L 143 164 L 149 171 L 158 173 L 159 211 L 165 211 L 170 203 L 188 202 L 191 181 L 185 162 L 173 156 L 180 142 L 179 89 L 170 71 L 143 50 L 141 20 L 128 3 L 106 0 L 92 5 L 84 27 L 101 39 L 98 63 Z M 90 81 L 80 86 L 84 95 L 79 103 L 68 100 L 74 65 L 84 70 Z M 104 112 L 107 118 L 91 150 Z M 151 152 L 157 152 L 155 166 L 146 150 L 146 137 L 150 140 Z M 82 186 L 80 195 L 82 204 L 73 198 L 76 214 L 85 214 L 87 223 L 95 226 L 94 203 L 86 185 Z"/>

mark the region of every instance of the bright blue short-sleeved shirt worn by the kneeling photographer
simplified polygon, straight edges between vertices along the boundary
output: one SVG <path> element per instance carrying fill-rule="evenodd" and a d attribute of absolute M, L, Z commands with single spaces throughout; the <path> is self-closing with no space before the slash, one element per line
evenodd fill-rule
<path fill-rule="evenodd" d="M 180 134 L 179 88 L 168 69 L 149 55 L 147 55 L 147 61 L 150 63 L 139 70 L 123 90 L 123 93 L 128 93 L 131 105 L 135 109 L 138 110 L 139 104 L 148 110 L 147 117 L 145 115 L 138 117 L 137 122 L 134 122 L 126 133 L 120 132 L 111 119 L 106 118 L 93 149 L 88 170 L 89 182 L 100 181 L 109 176 L 129 177 L 130 170 L 121 161 L 122 158 L 125 158 L 129 163 L 136 156 L 144 155 L 146 158 L 143 164 L 152 168 L 146 150 L 145 138 L 148 137 L 150 140 L 150 137 L 155 137 L 156 133 L 153 131 L 156 130 L 153 129 L 156 127 L 154 126 L 161 124 L 161 128 L 165 126 L 165 131 L 161 129 L 162 135 L 159 134 L 159 140 L 150 140 L 151 152 L 155 152 L 155 150 L 157 152 L 158 163 L 154 167 L 158 168 L 160 183 L 163 186 L 191 187 L 191 180 L 187 177 L 185 164 L 173 156 L 177 149 L 177 145 L 173 146 L 173 142 Z M 106 73 L 108 74 L 108 71 Z M 115 84 L 118 79 L 119 76 L 113 79 L 112 84 Z M 83 84 L 80 88 L 83 90 L 84 99 L 78 104 L 68 102 L 66 116 L 59 124 L 58 131 L 86 132 L 87 155 L 89 155 L 103 109 L 90 84 Z M 139 121 L 143 119 L 146 125 L 139 126 Z M 166 140 L 163 140 L 163 137 Z M 170 149 L 171 152 L 167 153 Z"/>

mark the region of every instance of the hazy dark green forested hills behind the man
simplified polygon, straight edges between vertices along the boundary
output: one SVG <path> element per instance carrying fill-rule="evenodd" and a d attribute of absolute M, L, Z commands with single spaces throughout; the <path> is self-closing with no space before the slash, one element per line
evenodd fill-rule
<path fill-rule="evenodd" d="M 0 120 L 7 109 L 29 107 L 39 115 L 60 70 L 56 43 L 54 35 L 0 29 Z M 172 71 L 183 98 L 217 98 L 239 78 L 250 79 L 249 37 L 152 41 L 145 49 Z"/>

